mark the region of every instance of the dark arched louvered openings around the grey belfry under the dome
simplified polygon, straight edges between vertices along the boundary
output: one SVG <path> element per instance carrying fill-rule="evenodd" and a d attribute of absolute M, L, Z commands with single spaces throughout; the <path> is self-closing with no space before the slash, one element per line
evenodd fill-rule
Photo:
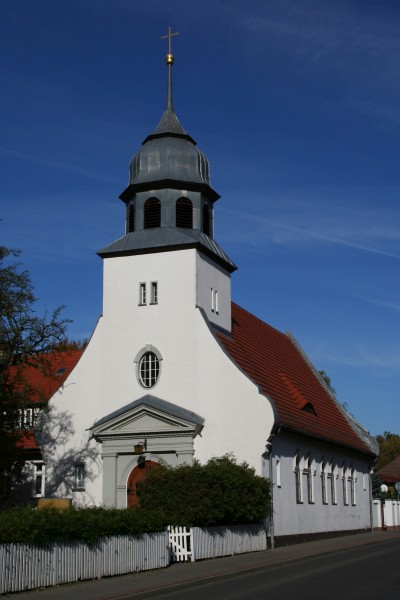
<path fill-rule="evenodd" d="M 193 204 L 189 198 L 179 198 L 176 201 L 175 226 L 183 229 L 193 229 Z M 161 227 L 161 202 L 158 198 L 149 198 L 144 204 L 144 229 Z M 128 233 L 135 231 L 135 207 L 131 205 L 128 211 Z M 207 204 L 203 206 L 203 233 L 211 234 L 211 213 Z"/>

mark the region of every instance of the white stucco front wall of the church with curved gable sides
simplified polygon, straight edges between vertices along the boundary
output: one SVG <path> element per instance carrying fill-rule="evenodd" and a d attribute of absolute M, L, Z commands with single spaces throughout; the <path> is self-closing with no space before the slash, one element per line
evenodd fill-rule
<path fill-rule="evenodd" d="M 73 462 L 84 460 L 86 492 L 74 493 L 74 502 L 101 504 L 101 447 L 93 440 L 88 444 L 87 430 L 147 393 L 205 419 L 194 441 L 195 458 L 204 462 L 233 452 L 261 473 L 273 411 L 221 349 L 197 308 L 208 295 L 199 292 L 199 285 L 218 286 L 220 318 L 225 324 L 228 315 L 230 320 L 229 275 L 219 267 L 212 271 L 194 249 L 104 260 L 103 316 L 80 362 L 50 402 L 47 436 L 58 440 L 46 444 L 44 458 L 53 495 L 70 494 L 62 482 Z M 158 283 L 158 304 L 139 306 L 139 284 L 151 281 Z M 134 363 L 147 345 L 162 355 L 161 375 L 151 389 L 139 384 Z"/>

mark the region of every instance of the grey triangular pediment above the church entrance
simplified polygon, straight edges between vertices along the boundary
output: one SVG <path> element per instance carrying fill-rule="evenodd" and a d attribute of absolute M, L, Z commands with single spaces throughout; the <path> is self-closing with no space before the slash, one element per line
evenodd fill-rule
<path fill-rule="evenodd" d="M 106 415 L 91 430 L 95 438 L 139 435 L 197 435 L 204 419 L 185 408 L 147 395 Z"/>

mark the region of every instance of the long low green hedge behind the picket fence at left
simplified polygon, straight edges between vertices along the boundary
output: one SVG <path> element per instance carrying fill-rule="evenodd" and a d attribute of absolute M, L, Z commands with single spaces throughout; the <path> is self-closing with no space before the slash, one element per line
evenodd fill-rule
<path fill-rule="evenodd" d="M 79 540 L 93 544 L 101 537 L 139 536 L 164 531 L 166 526 L 162 513 L 154 510 L 24 508 L 0 512 L 0 543 L 43 545 Z"/>

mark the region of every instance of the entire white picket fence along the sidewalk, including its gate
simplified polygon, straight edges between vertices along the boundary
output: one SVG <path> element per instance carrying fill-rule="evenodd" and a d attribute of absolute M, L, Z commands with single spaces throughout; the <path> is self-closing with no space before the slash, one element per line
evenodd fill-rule
<path fill-rule="evenodd" d="M 0 544 L 0 594 L 100 579 L 185 562 L 266 550 L 262 525 L 169 527 L 138 538 L 102 538 L 44 547 Z"/>

